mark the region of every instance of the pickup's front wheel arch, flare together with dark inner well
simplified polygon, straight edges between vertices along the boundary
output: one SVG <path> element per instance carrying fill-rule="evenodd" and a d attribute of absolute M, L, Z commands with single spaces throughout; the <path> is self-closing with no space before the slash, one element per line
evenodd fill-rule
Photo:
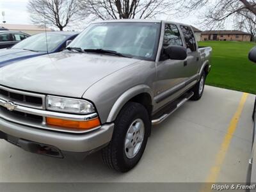
<path fill-rule="evenodd" d="M 125 91 L 118 97 L 115 104 L 111 108 L 111 111 L 108 115 L 106 122 L 113 122 L 116 119 L 116 116 L 120 112 L 120 110 L 124 107 L 124 105 L 129 102 L 138 102 L 145 106 L 148 113 L 152 111 L 152 100 L 153 100 L 153 93 L 149 86 L 145 84 L 139 84 L 130 88 L 129 90 Z M 151 118 L 151 117 L 150 117 Z"/>

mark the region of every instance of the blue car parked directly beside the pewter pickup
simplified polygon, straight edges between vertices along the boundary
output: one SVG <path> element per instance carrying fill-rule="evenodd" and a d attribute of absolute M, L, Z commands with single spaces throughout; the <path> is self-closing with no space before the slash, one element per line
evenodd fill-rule
<path fill-rule="evenodd" d="M 0 67 L 15 61 L 63 51 L 67 42 L 73 40 L 77 35 L 76 32 L 47 32 L 30 36 L 10 49 L 0 50 Z"/>

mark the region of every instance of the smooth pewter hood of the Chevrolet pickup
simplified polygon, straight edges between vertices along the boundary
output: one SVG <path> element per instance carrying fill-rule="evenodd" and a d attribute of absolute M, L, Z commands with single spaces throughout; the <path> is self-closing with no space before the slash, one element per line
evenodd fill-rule
<path fill-rule="evenodd" d="M 59 52 L 0 68 L 0 84 L 29 92 L 80 98 L 100 79 L 137 61 L 118 56 Z"/>

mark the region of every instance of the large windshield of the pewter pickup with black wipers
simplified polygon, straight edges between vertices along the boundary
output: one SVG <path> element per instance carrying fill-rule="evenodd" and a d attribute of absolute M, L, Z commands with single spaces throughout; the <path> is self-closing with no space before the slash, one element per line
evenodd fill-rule
<path fill-rule="evenodd" d="M 160 23 L 102 22 L 91 24 L 68 47 L 81 50 L 115 51 L 141 60 L 155 60 Z M 99 52 L 99 50 L 101 50 Z"/>

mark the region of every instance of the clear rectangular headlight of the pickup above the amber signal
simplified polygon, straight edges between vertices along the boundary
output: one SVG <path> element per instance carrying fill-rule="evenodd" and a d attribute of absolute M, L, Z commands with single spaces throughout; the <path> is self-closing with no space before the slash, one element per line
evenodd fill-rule
<path fill-rule="evenodd" d="M 81 99 L 68 99 L 65 97 L 47 96 L 46 109 L 67 113 L 87 114 L 95 112 L 93 104 Z"/>

